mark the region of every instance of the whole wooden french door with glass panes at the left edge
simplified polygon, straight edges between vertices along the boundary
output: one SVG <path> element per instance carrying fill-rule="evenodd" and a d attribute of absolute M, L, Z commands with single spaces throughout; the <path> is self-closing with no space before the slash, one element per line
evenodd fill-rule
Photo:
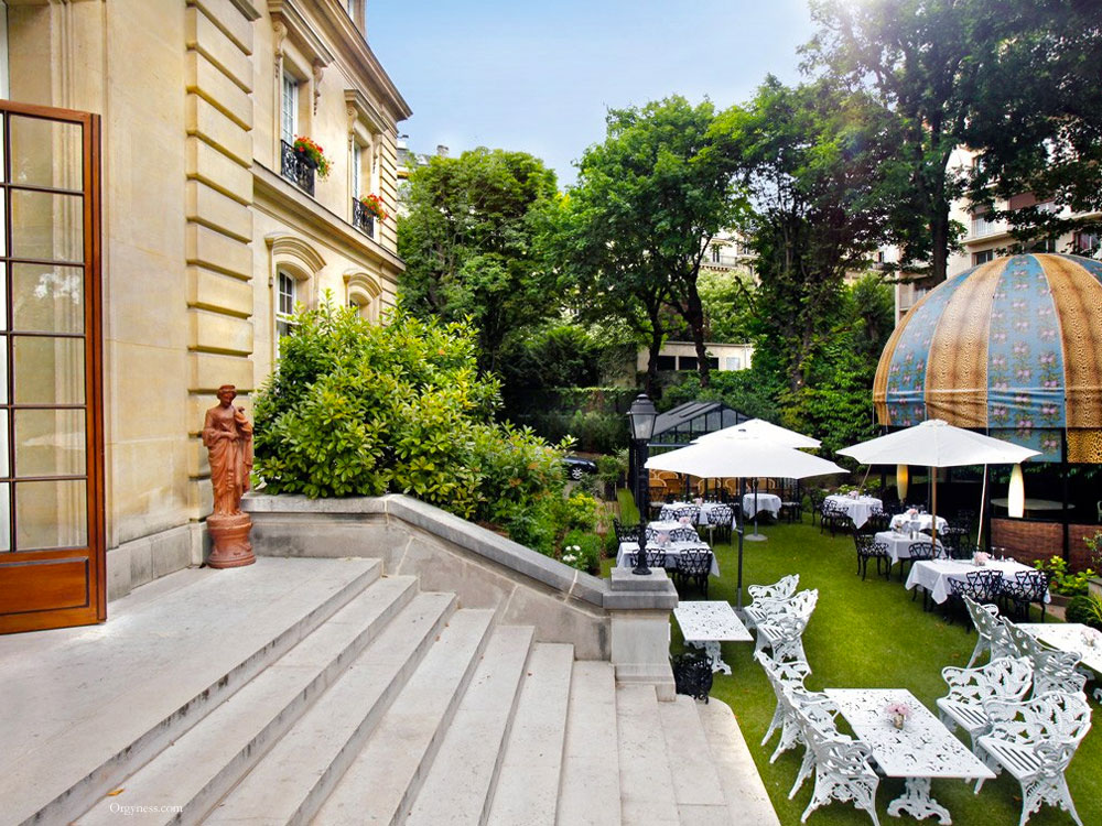
<path fill-rule="evenodd" d="M 107 617 L 99 116 L 0 100 L 0 633 Z"/>

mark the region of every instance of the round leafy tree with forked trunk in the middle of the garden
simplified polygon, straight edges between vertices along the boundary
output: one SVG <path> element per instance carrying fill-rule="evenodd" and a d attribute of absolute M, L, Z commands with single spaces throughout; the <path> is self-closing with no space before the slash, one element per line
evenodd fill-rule
<path fill-rule="evenodd" d="M 726 135 L 713 130 L 709 101 L 674 96 L 642 108 L 613 109 L 604 143 L 586 150 L 577 185 L 563 203 L 564 272 L 582 295 L 617 314 L 633 308 L 649 330 L 648 390 L 653 388 L 669 303 L 696 346 L 707 384 L 704 309 L 698 276 L 707 242 L 739 216 Z"/>

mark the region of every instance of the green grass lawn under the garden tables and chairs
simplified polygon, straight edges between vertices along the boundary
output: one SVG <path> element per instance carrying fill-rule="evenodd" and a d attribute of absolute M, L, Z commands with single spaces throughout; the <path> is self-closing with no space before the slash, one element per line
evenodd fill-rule
<path fill-rule="evenodd" d="M 626 521 L 635 515 L 630 500 L 622 497 Z M 853 541 L 839 535 L 820 535 L 808 518 L 803 524 L 778 524 L 763 529 L 766 542 L 744 545 L 744 584 L 773 583 L 781 576 L 799 573 L 800 588 L 818 588 L 819 604 L 804 633 L 804 648 L 814 673 L 808 687 L 836 688 L 908 688 L 931 710 L 933 700 L 946 693 L 941 669 L 964 665 L 975 644 L 974 632 L 961 623 L 950 626 L 938 612 L 923 612 L 921 597 L 911 601 L 893 572 L 892 582 L 869 573 L 865 582 L 854 570 L 856 557 Z M 737 551 L 731 545 L 716 548 L 721 576 L 713 577 L 710 599 L 726 599 L 734 605 L 736 593 Z M 607 565 L 607 563 L 606 563 Z M 700 598 L 695 593 L 688 599 Z M 748 602 L 745 597 L 744 602 Z M 1051 619 L 1049 619 L 1051 621 Z M 673 623 L 673 646 L 681 648 L 681 637 Z M 712 696 L 723 699 L 734 709 L 746 742 L 754 754 L 774 806 L 782 824 L 799 824 L 813 783 L 807 782 L 793 801 L 788 791 L 799 770 L 802 749 L 786 752 L 769 764 L 776 746 L 776 735 L 768 747 L 761 737 L 773 716 L 775 698 L 760 666 L 750 654 L 750 643 L 725 643 L 724 660 L 733 675 L 716 674 Z M 1091 687 L 1091 686 L 1089 686 Z M 1096 704 L 1091 700 L 1096 711 Z M 1068 784 L 1079 815 L 1087 826 L 1102 824 L 1102 733 L 1092 730 L 1068 770 Z M 915 823 L 909 816 L 893 818 L 887 804 L 903 791 L 903 781 L 885 778 L 877 793 L 878 815 L 885 826 L 892 823 Z M 1015 826 L 1022 809 L 1020 789 L 1005 773 L 988 781 L 975 796 L 962 781 L 933 781 L 933 796 L 944 805 L 957 824 Z M 808 824 L 868 824 L 868 815 L 850 804 L 832 803 L 813 813 Z M 927 820 L 936 823 L 936 820 Z M 1071 824 L 1066 813 L 1044 807 L 1029 819 L 1035 826 Z"/>

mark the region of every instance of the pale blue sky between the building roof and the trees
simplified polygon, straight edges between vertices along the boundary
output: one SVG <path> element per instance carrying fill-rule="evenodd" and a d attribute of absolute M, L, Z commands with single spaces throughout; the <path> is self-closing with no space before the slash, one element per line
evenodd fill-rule
<path fill-rule="evenodd" d="M 414 152 L 529 152 L 574 181 L 608 108 L 679 94 L 741 104 L 799 80 L 807 0 L 368 0 L 367 36 L 413 110 Z"/>

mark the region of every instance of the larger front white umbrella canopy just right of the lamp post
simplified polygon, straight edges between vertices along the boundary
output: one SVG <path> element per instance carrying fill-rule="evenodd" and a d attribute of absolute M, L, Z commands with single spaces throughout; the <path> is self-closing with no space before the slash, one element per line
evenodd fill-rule
<path fill-rule="evenodd" d="M 647 459 L 651 470 L 672 470 L 705 479 L 778 477 L 804 479 L 809 476 L 844 474 L 833 461 L 779 444 L 752 433 L 698 442 Z"/>

